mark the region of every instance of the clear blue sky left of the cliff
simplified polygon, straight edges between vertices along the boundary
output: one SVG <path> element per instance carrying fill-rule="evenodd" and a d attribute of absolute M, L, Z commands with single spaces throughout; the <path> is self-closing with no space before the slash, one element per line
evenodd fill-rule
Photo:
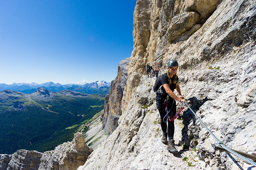
<path fill-rule="evenodd" d="M 111 82 L 133 50 L 136 1 L 0 1 L 0 83 Z"/>

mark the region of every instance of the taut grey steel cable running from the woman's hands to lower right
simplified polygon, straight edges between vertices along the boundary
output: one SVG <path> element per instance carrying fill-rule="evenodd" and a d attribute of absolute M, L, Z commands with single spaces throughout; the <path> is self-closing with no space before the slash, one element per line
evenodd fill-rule
<path fill-rule="evenodd" d="M 189 107 L 187 101 L 184 101 L 185 105 L 187 105 L 187 107 L 191 110 L 191 112 L 195 115 L 195 117 L 200 121 L 200 123 L 204 126 L 205 129 L 207 129 L 207 131 L 209 132 L 210 135 L 212 135 L 212 137 L 217 141 L 215 143 L 216 146 L 221 146 L 222 148 L 224 148 L 226 151 L 236 155 L 238 158 L 241 158 L 243 160 L 245 160 L 247 163 L 254 165 L 256 167 L 256 163 L 253 162 L 250 159 L 245 158 L 245 156 L 242 156 L 241 154 L 238 154 L 237 152 L 231 150 L 230 148 L 226 147 L 224 145 L 223 142 L 221 142 L 220 140 L 218 140 L 218 138 L 212 133 L 212 131 L 210 131 L 210 129 L 207 128 L 207 126 L 203 123 L 203 121 L 201 121 L 201 119 L 196 115 L 196 113 Z"/>

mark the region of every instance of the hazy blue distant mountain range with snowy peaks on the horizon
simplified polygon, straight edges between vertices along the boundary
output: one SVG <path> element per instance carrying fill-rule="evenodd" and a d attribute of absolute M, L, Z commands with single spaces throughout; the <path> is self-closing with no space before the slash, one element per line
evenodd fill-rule
<path fill-rule="evenodd" d="M 13 83 L 13 84 L 5 84 L 0 83 L 0 91 L 3 90 L 13 90 L 23 92 L 24 94 L 32 94 L 36 91 L 37 88 L 43 87 L 48 91 L 59 92 L 63 90 L 70 90 L 75 92 L 80 92 L 82 94 L 100 94 L 107 95 L 109 93 L 110 84 L 103 80 L 96 81 L 93 83 L 85 83 L 85 84 L 60 84 L 60 83 Z"/>

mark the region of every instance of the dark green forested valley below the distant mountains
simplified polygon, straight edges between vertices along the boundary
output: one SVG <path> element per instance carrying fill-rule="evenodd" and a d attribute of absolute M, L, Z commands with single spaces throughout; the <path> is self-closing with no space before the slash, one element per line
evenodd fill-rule
<path fill-rule="evenodd" d="M 105 96 L 73 91 L 0 92 L 0 154 L 53 150 L 72 141 L 79 126 L 104 109 Z"/>

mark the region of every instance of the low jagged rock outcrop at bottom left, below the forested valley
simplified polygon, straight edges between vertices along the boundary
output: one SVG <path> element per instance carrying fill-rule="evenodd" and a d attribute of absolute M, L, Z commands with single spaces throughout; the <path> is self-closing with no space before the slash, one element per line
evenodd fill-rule
<path fill-rule="evenodd" d="M 77 169 L 91 152 L 84 135 L 76 133 L 72 142 L 63 143 L 53 151 L 18 150 L 13 155 L 0 155 L 0 169 Z"/>

